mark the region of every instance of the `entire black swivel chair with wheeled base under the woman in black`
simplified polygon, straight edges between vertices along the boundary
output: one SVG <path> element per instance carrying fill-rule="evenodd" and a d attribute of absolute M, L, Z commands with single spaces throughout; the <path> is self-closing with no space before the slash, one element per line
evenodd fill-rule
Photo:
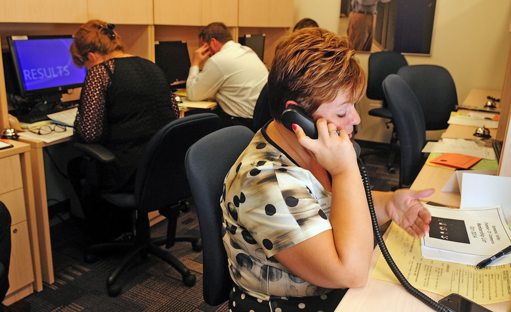
<path fill-rule="evenodd" d="M 85 250 L 85 260 L 94 260 L 94 254 L 128 250 L 127 256 L 110 273 L 106 287 L 110 296 L 117 296 L 121 287 L 116 284 L 120 275 L 137 257 L 145 258 L 153 254 L 169 263 L 179 271 L 183 283 L 187 286 L 195 284 L 195 276 L 186 266 L 170 252 L 159 248 L 167 242 L 168 237 L 151 240 L 148 213 L 159 210 L 169 220 L 171 245 L 174 241 L 190 241 L 195 251 L 202 249 L 198 237 L 193 235 L 175 236 L 177 217 L 180 214 L 183 198 L 191 195 L 185 171 L 185 154 L 188 148 L 219 128 L 220 119 L 215 114 L 196 114 L 174 120 L 160 129 L 147 144 L 137 169 L 135 192 L 103 194 L 101 197 L 117 207 L 137 212 L 135 239 L 130 241 L 109 241 L 95 244 Z M 92 151 L 91 144 L 76 144 L 77 148 L 99 159 Z"/>

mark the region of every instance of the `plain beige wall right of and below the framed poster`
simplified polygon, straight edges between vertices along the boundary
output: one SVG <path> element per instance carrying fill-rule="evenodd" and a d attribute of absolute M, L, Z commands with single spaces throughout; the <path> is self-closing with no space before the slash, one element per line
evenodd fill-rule
<path fill-rule="evenodd" d="M 405 57 L 410 65 L 445 67 L 454 78 L 459 103 L 473 88 L 500 91 L 511 42 L 510 18 L 509 0 L 437 0 L 431 55 Z M 367 73 L 369 54 L 356 57 Z M 379 105 L 366 97 L 359 102 L 362 123 L 356 138 L 388 142 L 390 129 L 384 121 L 367 115 Z"/>

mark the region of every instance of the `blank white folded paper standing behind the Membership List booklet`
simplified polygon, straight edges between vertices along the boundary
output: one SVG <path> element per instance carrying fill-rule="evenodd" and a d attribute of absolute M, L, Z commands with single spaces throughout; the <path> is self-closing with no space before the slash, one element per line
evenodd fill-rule
<path fill-rule="evenodd" d="M 511 222 L 511 177 L 463 174 L 460 209 L 500 205 L 506 222 Z"/>

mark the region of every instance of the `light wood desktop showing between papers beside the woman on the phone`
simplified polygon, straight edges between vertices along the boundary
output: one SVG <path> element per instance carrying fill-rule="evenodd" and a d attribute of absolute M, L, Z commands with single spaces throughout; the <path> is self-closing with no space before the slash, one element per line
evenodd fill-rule
<path fill-rule="evenodd" d="M 446 133 L 447 132 L 449 132 L 448 137 L 450 138 L 462 138 L 465 137 L 467 133 L 472 134 L 474 132 L 474 127 L 450 125 Z M 450 169 L 425 165 L 420 170 L 410 188 L 413 190 L 434 188 L 435 193 L 426 198 L 426 200 L 431 200 L 432 202 L 446 206 L 459 207 L 461 200 L 459 192 L 441 192 L 441 189 L 447 183 L 453 172 L 454 171 Z M 386 238 L 387 235 L 384 235 L 384 237 Z M 380 254 L 380 248 L 376 247 L 372 256 L 367 284 L 363 287 L 349 289 L 336 311 L 432 311 L 429 306 L 409 294 L 401 284 L 371 278 Z M 444 297 L 426 291 L 423 291 L 423 293 L 436 302 Z M 484 306 L 494 312 L 510 310 L 509 302 L 486 304 Z"/>

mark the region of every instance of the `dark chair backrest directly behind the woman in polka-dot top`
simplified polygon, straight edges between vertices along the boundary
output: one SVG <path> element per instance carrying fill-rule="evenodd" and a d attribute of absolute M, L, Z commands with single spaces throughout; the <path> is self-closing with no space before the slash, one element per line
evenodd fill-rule
<path fill-rule="evenodd" d="M 220 208 L 224 179 L 253 136 L 247 127 L 223 128 L 197 141 L 186 154 L 186 173 L 203 240 L 203 297 L 210 305 L 229 300 L 233 283 L 222 240 L 226 232 Z"/>

